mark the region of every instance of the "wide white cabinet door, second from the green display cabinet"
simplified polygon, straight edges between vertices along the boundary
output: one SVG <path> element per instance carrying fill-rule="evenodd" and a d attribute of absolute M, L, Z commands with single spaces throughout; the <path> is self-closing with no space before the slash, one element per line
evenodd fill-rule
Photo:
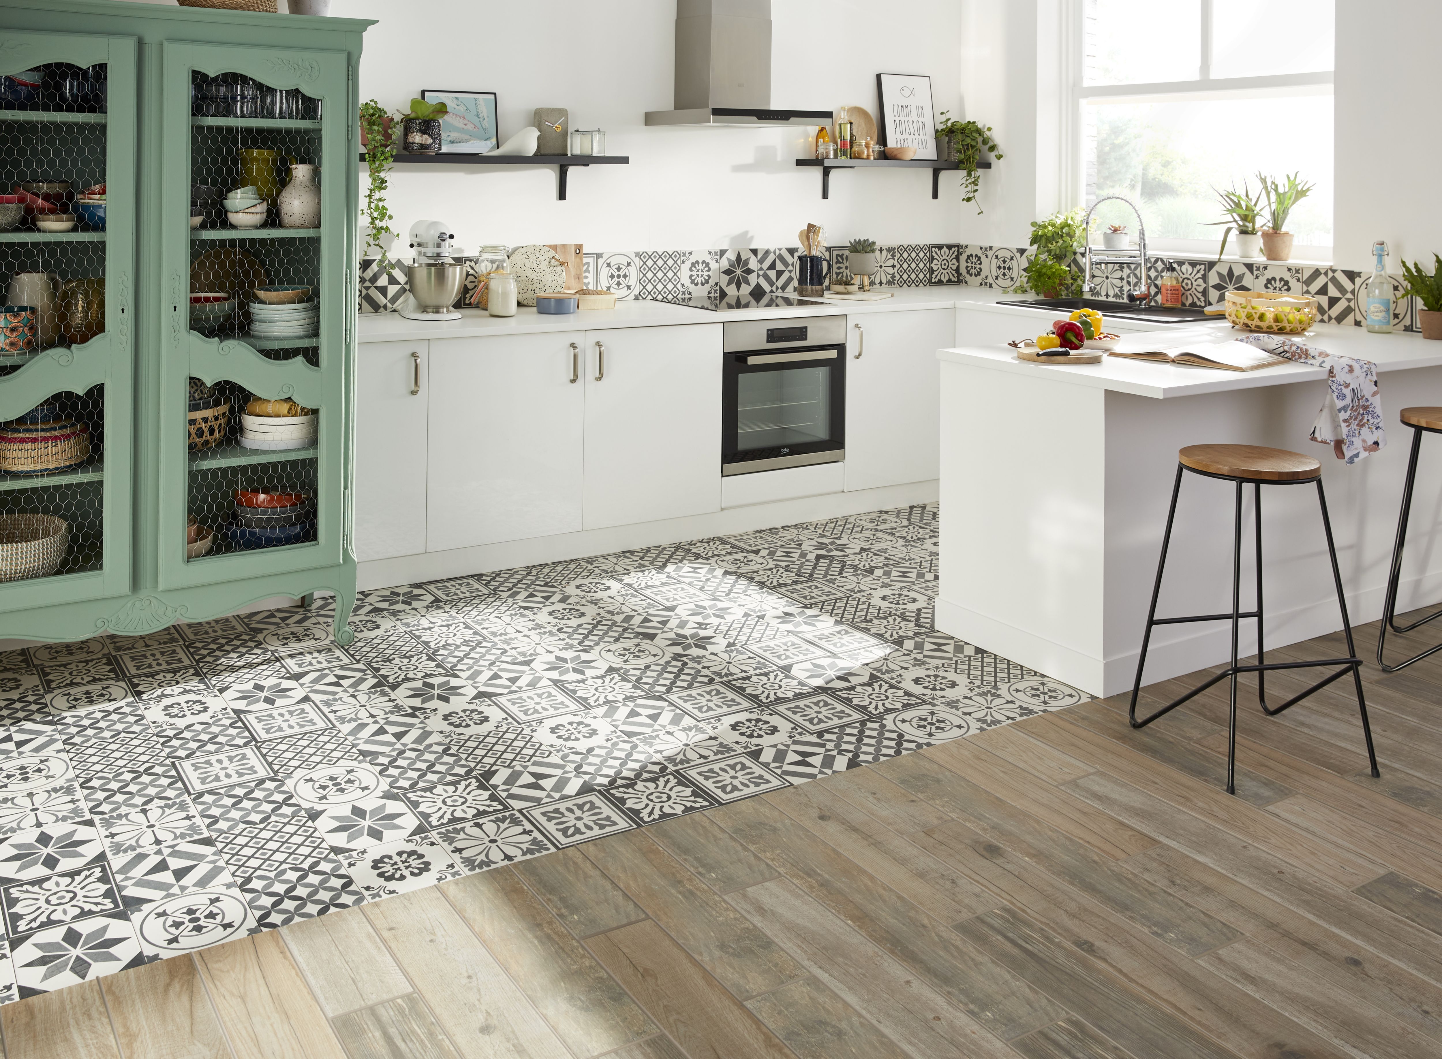
<path fill-rule="evenodd" d="M 424 550 L 581 529 L 584 337 L 431 340 Z"/>

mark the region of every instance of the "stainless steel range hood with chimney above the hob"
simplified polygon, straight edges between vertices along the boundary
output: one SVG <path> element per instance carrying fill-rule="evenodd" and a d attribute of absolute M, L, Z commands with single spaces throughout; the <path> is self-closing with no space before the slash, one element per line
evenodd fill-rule
<path fill-rule="evenodd" d="M 647 125 L 815 125 L 831 111 L 771 107 L 771 0 L 676 0 L 676 110 Z"/>

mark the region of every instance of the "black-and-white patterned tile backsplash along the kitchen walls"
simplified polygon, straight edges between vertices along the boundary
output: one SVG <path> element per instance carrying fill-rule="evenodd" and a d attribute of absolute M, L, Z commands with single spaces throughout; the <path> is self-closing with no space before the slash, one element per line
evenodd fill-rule
<path fill-rule="evenodd" d="M 1021 284 L 1027 246 L 979 246 L 933 242 L 877 246 L 878 272 L 872 282 L 883 287 L 937 287 L 965 284 L 999 291 Z M 849 278 L 846 248 L 828 248 L 832 271 Z M 796 255 L 792 248 L 725 251 L 632 251 L 585 255 L 585 285 L 611 290 L 623 298 L 655 298 L 675 294 L 771 294 L 796 290 Z M 1080 269 L 1080 259 L 1076 262 Z M 1368 272 L 1331 265 L 1295 265 L 1282 261 L 1213 261 L 1211 258 L 1155 256 L 1151 259 L 1152 288 L 1161 274 L 1181 275 L 1182 301 L 1207 305 L 1230 290 L 1285 291 L 1317 298 L 1322 321 L 1361 326 L 1360 300 Z M 1139 284 L 1136 265 L 1097 265 L 1093 269 L 1103 298 L 1125 295 Z M 1397 294 L 1402 278 L 1392 277 Z M 1415 298 L 1399 297 L 1393 326 L 1416 331 Z"/>

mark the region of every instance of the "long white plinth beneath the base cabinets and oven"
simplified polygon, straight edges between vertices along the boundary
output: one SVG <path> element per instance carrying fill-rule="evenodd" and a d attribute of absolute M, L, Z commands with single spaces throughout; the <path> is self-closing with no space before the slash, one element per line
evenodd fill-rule
<path fill-rule="evenodd" d="M 448 552 L 425 552 L 395 559 L 373 559 L 356 566 L 356 586 L 362 591 L 410 585 L 418 581 L 459 578 L 466 573 L 487 573 L 513 566 L 534 566 L 562 559 L 584 559 L 591 555 L 624 552 L 633 548 L 673 545 L 731 533 L 786 526 L 795 522 L 836 519 L 885 507 L 924 504 L 936 500 L 937 481 L 914 481 L 906 486 L 885 486 L 855 493 L 777 500 L 747 504 L 685 519 L 643 522 L 632 526 L 611 526 L 581 533 L 558 533 L 549 537 L 506 540 L 499 545 L 457 548 Z"/>

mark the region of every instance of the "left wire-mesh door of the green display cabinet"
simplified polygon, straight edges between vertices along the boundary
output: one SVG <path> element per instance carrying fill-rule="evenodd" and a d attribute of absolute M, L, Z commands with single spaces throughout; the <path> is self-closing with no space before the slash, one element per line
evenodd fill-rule
<path fill-rule="evenodd" d="M 0 49 L 0 609 L 130 591 L 136 40 Z"/>

